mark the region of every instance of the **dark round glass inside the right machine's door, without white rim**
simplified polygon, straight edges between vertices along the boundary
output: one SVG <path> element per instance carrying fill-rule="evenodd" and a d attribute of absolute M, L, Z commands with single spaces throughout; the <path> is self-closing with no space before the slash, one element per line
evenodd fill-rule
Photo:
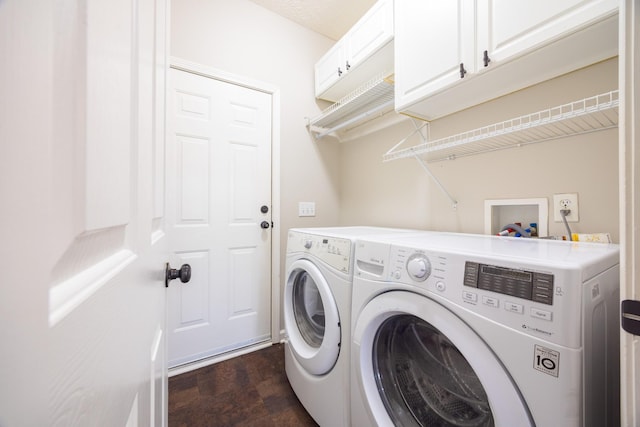
<path fill-rule="evenodd" d="M 446 336 L 416 316 L 397 315 L 380 325 L 373 369 L 394 425 L 494 425 L 473 368 Z"/>

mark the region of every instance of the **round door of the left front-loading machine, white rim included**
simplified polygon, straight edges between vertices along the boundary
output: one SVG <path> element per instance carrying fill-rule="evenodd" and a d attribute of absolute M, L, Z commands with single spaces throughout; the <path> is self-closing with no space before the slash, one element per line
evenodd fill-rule
<path fill-rule="evenodd" d="M 326 279 L 311 261 L 294 261 L 284 290 L 284 325 L 289 345 L 304 369 L 329 372 L 340 354 L 340 316 Z"/>

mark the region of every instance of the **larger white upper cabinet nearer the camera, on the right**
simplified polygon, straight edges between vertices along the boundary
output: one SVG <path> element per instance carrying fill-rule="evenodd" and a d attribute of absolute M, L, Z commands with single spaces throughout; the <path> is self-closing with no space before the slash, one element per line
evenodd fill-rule
<path fill-rule="evenodd" d="M 617 55 L 617 0 L 403 0 L 396 110 L 433 120 Z"/>

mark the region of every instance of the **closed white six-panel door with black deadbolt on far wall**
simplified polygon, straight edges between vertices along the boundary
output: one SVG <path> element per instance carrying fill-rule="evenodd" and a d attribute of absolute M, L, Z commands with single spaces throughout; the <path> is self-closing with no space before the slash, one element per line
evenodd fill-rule
<path fill-rule="evenodd" d="M 271 339 L 271 95 L 172 68 L 169 365 Z M 261 224 L 264 227 L 262 228 Z"/>

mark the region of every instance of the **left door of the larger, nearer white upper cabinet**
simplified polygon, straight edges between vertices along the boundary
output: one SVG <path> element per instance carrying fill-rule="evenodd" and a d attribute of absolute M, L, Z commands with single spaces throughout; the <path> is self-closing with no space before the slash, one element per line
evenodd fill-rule
<path fill-rule="evenodd" d="M 460 64 L 476 71 L 473 2 L 402 0 L 394 14 L 397 110 L 459 81 Z"/>

